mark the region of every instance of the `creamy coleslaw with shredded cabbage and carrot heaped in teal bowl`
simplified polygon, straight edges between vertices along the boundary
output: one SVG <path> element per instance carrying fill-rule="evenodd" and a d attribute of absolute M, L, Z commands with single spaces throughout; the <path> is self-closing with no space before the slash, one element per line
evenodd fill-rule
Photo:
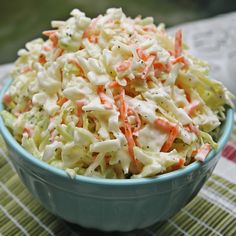
<path fill-rule="evenodd" d="M 142 178 L 204 161 L 233 95 L 152 17 L 108 9 L 18 52 L 1 113 L 36 158 L 71 176 Z"/>

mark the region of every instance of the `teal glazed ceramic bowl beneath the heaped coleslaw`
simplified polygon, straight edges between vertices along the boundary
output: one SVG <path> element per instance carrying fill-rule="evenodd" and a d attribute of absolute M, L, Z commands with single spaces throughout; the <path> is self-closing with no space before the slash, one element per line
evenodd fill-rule
<path fill-rule="evenodd" d="M 0 94 L 2 97 L 10 82 Z M 229 139 L 233 110 L 226 112 L 217 150 L 204 163 L 154 178 L 108 180 L 85 176 L 71 179 L 63 170 L 44 163 L 24 150 L 0 118 L 0 131 L 9 157 L 22 182 L 50 212 L 83 227 L 104 231 L 130 231 L 164 221 L 199 192 L 211 175 L 220 151 Z"/>

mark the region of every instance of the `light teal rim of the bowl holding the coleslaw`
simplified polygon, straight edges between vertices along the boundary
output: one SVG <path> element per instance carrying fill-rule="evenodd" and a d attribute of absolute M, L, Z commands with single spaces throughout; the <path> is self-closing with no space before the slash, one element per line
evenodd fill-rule
<path fill-rule="evenodd" d="M 5 85 L 2 87 L 0 91 L 0 112 L 4 109 L 4 105 L 2 103 L 3 96 L 5 92 L 7 91 L 8 87 L 12 83 L 12 79 L 9 78 L 9 80 L 5 83 Z M 37 166 L 45 171 L 51 172 L 52 174 L 55 174 L 56 176 L 62 177 L 67 180 L 73 180 L 78 183 L 90 183 L 90 184 L 97 184 L 97 185 L 121 185 L 121 186 L 130 186 L 130 185 L 143 185 L 143 184 L 155 184 L 155 183 L 161 183 L 166 182 L 169 180 L 177 179 L 179 177 L 182 177 L 184 175 L 191 174 L 191 172 L 196 171 L 200 169 L 203 165 L 206 165 L 209 163 L 216 154 L 218 154 L 225 144 L 227 143 L 232 128 L 233 128 L 233 122 L 234 121 L 234 110 L 232 108 L 226 109 L 226 120 L 224 121 L 223 126 L 223 134 L 221 135 L 219 141 L 218 141 L 218 148 L 216 150 L 211 150 L 211 152 L 208 154 L 207 158 L 203 163 L 199 161 L 195 161 L 188 166 L 185 166 L 183 169 L 175 170 L 169 173 L 161 174 L 155 177 L 148 177 L 148 178 L 139 178 L 139 179 L 102 179 L 97 177 L 90 177 L 90 176 L 82 176 L 82 175 L 76 175 L 73 179 L 66 173 L 65 170 L 61 170 L 57 167 L 51 166 L 48 163 L 37 159 L 32 154 L 30 154 L 28 151 L 26 151 L 12 136 L 10 131 L 5 126 L 3 119 L 0 115 L 0 133 L 5 140 L 5 142 L 8 143 L 10 148 L 12 148 L 15 152 L 17 152 L 21 158 L 23 158 L 25 161 L 29 162 L 30 164 Z"/>

